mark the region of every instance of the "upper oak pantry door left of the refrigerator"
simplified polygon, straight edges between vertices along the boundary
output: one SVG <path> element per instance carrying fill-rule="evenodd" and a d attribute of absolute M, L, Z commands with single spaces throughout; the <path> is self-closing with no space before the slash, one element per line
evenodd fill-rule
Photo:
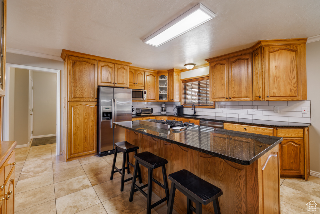
<path fill-rule="evenodd" d="M 98 61 L 69 56 L 68 101 L 96 101 Z"/>

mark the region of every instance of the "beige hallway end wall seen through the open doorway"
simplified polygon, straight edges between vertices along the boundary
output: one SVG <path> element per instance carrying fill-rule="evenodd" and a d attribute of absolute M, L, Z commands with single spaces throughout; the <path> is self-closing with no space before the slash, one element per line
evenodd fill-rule
<path fill-rule="evenodd" d="M 56 133 L 57 78 L 33 71 L 33 136 Z"/>

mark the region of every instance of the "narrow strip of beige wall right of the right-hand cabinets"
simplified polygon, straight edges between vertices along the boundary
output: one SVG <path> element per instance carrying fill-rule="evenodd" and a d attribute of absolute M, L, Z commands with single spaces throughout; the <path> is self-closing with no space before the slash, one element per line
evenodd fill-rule
<path fill-rule="evenodd" d="M 320 41 L 306 44 L 307 96 L 311 102 L 310 170 L 320 173 Z M 319 174 L 320 175 L 320 174 Z"/>

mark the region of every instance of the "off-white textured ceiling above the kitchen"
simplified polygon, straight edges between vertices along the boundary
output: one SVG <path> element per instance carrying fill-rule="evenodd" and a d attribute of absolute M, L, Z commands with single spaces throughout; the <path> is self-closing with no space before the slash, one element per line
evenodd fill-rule
<path fill-rule="evenodd" d="M 198 3 L 217 16 L 160 47 L 142 42 Z M 320 35 L 319 0 L 9 0 L 7 48 L 62 49 L 167 70 L 248 48 L 261 39 Z"/>

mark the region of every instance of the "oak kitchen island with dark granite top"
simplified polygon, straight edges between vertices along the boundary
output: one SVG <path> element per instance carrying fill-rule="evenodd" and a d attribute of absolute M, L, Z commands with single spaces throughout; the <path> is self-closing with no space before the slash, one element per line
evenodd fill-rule
<path fill-rule="evenodd" d="M 167 174 L 186 169 L 222 189 L 221 213 L 280 213 L 280 137 L 194 125 L 180 132 L 140 124 L 114 123 L 126 130 L 126 140 L 168 160 Z M 129 157 L 134 162 L 133 155 Z M 133 169 L 130 169 L 133 171 Z M 142 180 L 147 171 L 142 167 Z M 154 177 L 162 181 L 160 170 Z M 169 186 L 170 186 L 169 182 Z M 162 188 L 153 191 L 164 196 Z M 176 193 L 174 209 L 186 213 L 186 197 Z M 212 205 L 204 213 L 213 213 Z"/>

